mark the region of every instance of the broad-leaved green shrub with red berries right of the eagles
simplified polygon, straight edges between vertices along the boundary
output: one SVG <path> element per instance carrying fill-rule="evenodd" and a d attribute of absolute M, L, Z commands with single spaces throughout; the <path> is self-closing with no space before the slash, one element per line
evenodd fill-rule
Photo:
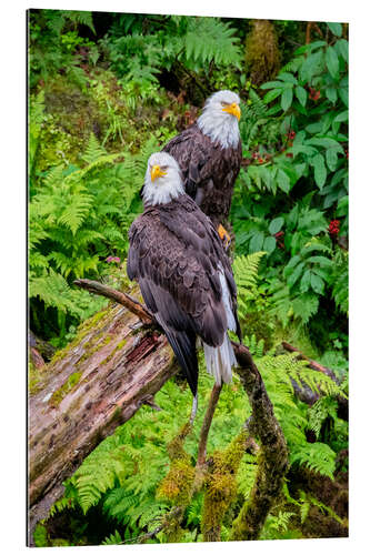
<path fill-rule="evenodd" d="M 263 100 L 250 90 L 240 125 L 250 163 L 233 199 L 237 252 L 267 252 L 270 310 L 284 326 L 309 324 L 322 297 L 348 315 L 348 260 L 329 233 L 334 216 L 348 233 L 347 48 L 337 36 L 298 49 Z"/>

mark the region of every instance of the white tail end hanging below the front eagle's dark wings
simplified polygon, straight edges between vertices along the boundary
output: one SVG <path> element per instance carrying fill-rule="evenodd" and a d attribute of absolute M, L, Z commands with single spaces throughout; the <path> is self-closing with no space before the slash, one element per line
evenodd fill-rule
<path fill-rule="evenodd" d="M 203 349 L 207 372 L 214 376 L 217 385 L 221 385 L 222 382 L 230 383 L 232 380 L 231 366 L 237 365 L 237 360 L 228 334 L 224 334 L 222 345 L 212 347 L 203 343 Z"/>

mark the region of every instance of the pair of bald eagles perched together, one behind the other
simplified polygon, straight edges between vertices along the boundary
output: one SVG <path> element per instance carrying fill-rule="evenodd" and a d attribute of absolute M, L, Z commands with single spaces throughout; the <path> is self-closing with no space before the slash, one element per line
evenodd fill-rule
<path fill-rule="evenodd" d="M 193 125 L 149 158 L 143 213 L 129 231 L 127 270 L 197 395 L 200 337 L 207 370 L 229 383 L 240 339 L 237 287 L 221 239 L 240 170 L 240 100 L 212 94 Z M 218 232 L 217 232 L 218 230 Z"/>

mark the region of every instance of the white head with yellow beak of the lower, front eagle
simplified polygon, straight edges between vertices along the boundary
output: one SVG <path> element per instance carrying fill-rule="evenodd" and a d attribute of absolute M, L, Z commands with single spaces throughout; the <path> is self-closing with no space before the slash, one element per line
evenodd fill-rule
<path fill-rule="evenodd" d="M 144 204 L 167 204 L 184 193 L 179 164 L 167 152 L 154 152 L 149 160 L 142 192 Z"/>

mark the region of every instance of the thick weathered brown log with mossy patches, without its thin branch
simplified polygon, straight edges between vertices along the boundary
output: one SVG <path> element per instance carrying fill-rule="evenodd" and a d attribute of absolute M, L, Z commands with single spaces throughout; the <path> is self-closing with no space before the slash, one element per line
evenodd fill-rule
<path fill-rule="evenodd" d="M 28 408 L 29 544 L 62 482 L 178 370 L 166 337 L 133 332 L 138 324 L 132 312 L 109 306 L 41 371 Z"/>

